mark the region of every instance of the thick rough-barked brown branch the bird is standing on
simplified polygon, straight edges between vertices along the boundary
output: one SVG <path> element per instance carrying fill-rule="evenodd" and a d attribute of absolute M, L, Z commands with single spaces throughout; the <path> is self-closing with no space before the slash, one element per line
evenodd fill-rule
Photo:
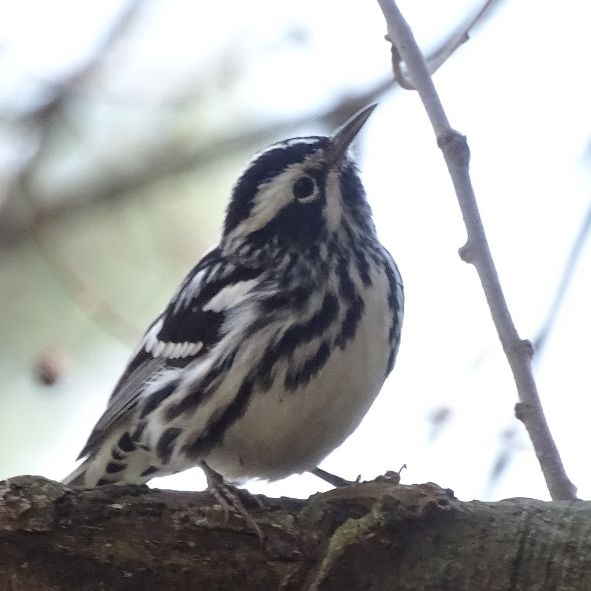
<path fill-rule="evenodd" d="M 208 493 L 0 483 L 0 590 L 591 589 L 591 503 L 460 502 L 378 479 L 261 498 L 264 547 Z"/>

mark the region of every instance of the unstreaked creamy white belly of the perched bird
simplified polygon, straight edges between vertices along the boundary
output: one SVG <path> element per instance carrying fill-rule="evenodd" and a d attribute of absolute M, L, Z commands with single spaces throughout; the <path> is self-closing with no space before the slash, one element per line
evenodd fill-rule
<path fill-rule="evenodd" d="M 267 392 L 254 392 L 244 414 L 206 457 L 209 466 L 230 482 L 277 480 L 316 467 L 355 431 L 378 395 L 390 325 L 387 302 L 366 299 L 345 350 L 337 347 L 307 385 L 286 391 L 278 379 Z"/>

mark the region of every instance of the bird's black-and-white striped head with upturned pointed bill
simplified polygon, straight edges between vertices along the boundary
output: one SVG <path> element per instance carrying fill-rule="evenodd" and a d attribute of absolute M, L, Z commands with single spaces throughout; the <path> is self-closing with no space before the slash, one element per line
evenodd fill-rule
<path fill-rule="evenodd" d="M 226 210 L 223 243 L 237 254 L 303 253 L 340 234 L 373 234 L 371 209 L 349 146 L 376 105 L 330 137 L 297 137 L 255 155 Z"/>

